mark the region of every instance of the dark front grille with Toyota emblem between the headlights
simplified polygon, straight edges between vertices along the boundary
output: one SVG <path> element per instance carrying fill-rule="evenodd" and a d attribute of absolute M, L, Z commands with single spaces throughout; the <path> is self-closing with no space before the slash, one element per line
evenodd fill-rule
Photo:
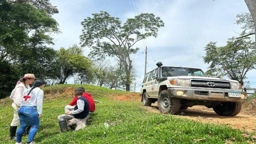
<path fill-rule="evenodd" d="M 207 82 L 214 82 L 215 86 L 208 86 Z M 230 89 L 230 82 L 215 80 L 191 80 L 191 87 Z"/>

